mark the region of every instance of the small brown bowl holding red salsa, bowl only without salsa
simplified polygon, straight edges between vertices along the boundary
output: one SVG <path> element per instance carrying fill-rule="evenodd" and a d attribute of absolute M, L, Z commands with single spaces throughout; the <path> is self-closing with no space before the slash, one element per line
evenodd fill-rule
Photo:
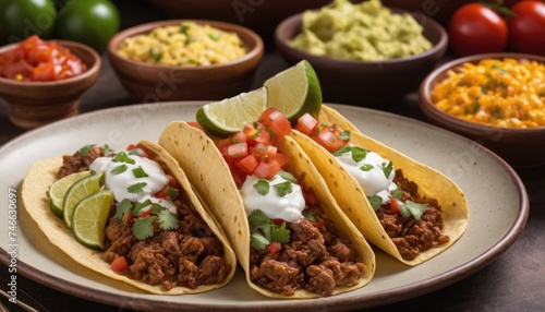
<path fill-rule="evenodd" d="M 8 104 L 9 118 L 15 127 L 28 130 L 77 115 L 80 97 L 98 77 L 100 56 L 94 49 L 74 41 L 56 41 L 77 56 L 88 70 L 55 82 L 20 82 L 0 77 L 0 97 Z M 0 53 L 17 45 L 4 46 L 0 48 Z"/>

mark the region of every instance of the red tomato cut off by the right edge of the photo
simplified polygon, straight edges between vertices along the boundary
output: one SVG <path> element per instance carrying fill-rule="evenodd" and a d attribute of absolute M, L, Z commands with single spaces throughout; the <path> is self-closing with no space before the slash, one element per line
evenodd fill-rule
<path fill-rule="evenodd" d="M 545 56 L 545 3 L 521 1 L 511 7 L 507 20 L 509 47 L 516 52 Z"/>

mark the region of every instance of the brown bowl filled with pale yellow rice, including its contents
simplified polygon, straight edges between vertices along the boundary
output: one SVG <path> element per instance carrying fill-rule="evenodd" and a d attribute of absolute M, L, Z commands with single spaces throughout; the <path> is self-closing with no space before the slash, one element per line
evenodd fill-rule
<path fill-rule="evenodd" d="M 245 27 L 205 20 L 169 20 L 118 33 L 108 59 L 138 103 L 216 100 L 249 91 L 264 53 Z"/>

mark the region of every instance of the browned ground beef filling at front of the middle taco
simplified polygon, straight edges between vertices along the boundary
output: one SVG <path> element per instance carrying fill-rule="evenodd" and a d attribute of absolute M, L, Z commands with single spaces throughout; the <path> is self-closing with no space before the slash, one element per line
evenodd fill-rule
<path fill-rule="evenodd" d="M 325 217 L 319 208 L 308 208 Z M 365 265 L 359 253 L 341 241 L 336 227 L 326 220 L 316 226 L 308 219 L 288 223 L 290 242 L 271 255 L 267 249 L 251 249 L 250 277 L 257 286 L 284 296 L 305 289 L 319 296 L 331 296 L 337 286 L 358 284 Z"/>

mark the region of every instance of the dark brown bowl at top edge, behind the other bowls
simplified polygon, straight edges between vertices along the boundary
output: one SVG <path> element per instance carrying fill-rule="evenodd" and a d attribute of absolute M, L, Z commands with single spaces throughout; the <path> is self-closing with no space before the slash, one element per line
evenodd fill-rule
<path fill-rule="evenodd" d="M 272 38 L 275 27 L 283 19 L 306 9 L 317 9 L 331 0 L 149 0 L 172 19 L 222 21 L 253 29 L 265 38 Z"/>

